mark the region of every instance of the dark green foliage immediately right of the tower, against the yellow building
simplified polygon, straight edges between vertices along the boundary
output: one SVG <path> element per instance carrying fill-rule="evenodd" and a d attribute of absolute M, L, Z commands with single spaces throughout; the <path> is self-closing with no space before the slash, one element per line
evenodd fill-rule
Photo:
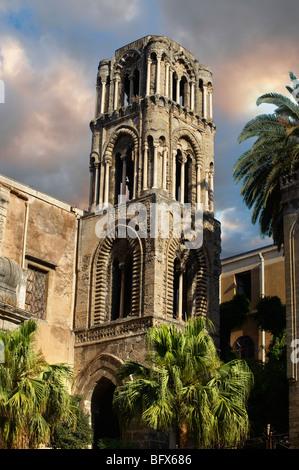
<path fill-rule="evenodd" d="M 244 294 L 236 294 L 231 300 L 220 304 L 220 357 L 222 360 L 229 360 L 234 356 L 230 346 L 231 331 L 244 325 L 249 307 L 250 301 Z"/>

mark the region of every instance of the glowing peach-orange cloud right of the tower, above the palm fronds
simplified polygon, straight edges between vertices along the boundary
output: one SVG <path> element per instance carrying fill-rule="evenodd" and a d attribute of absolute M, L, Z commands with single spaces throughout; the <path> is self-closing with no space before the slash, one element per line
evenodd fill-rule
<path fill-rule="evenodd" d="M 286 94 L 289 72 L 298 66 L 298 45 L 275 41 L 218 64 L 214 84 L 217 110 L 238 119 L 266 112 L 267 108 L 256 107 L 257 98 L 269 91 Z"/>

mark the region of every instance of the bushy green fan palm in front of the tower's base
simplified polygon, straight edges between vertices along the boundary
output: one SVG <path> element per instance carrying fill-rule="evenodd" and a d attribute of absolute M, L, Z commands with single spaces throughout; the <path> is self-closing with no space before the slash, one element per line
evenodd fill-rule
<path fill-rule="evenodd" d="M 137 419 L 154 430 L 172 430 L 178 447 L 227 447 L 246 438 L 252 374 L 246 363 L 223 364 L 202 317 L 184 330 L 160 325 L 147 333 L 147 364 L 127 361 L 114 406 L 124 427 Z"/>

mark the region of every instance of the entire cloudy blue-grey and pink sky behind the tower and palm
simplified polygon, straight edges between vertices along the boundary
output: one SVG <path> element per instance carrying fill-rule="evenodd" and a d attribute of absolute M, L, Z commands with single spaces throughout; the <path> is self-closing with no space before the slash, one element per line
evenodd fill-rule
<path fill-rule="evenodd" d="M 88 206 L 89 122 L 100 60 L 140 37 L 169 36 L 214 75 L 215 212 L 222 257 L 271 243 L 233 181 L 256 99 L 299 77 L 298 0 L 0 0 L 0 173 Z"/>

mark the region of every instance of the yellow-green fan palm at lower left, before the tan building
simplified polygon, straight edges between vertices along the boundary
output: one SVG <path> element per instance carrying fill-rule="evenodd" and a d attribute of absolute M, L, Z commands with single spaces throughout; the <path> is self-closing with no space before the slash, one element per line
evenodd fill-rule
<path fill-rule="evenodd" d="M 37 324 L 28 320 L 13 331 L 0 331 L 0 448 L 36 448 L 47 444 L 55 426 L 71 420 L 68 365 L 49 365 L 34 347 Z"/>

